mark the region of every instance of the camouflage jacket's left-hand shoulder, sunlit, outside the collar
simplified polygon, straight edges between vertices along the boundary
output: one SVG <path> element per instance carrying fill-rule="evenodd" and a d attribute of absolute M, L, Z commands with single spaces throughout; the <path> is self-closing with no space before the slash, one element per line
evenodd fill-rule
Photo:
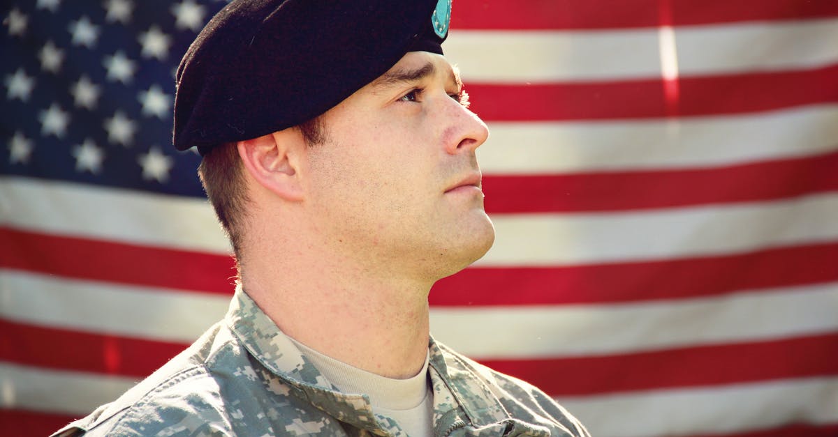
<path fill-rule="evenodd" d="M 292 435 L 315 429 L 343 434 L 241 344 L 215 342 L 209 357 L 197 357 L 180 364 L 173 359 L 168 371 L 161 368 L 54 436 Z"/>

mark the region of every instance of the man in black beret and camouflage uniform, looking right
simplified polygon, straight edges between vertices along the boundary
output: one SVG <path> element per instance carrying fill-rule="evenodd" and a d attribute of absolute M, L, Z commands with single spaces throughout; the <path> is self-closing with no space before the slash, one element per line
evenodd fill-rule
<path fill-rule="evenodd" d="M 494 240 L 450 0 L 236 1 L 178 69 L 174 144 L 235 250 L 230 311 L 57 435 L 587 435 L 429 336 Z"/>

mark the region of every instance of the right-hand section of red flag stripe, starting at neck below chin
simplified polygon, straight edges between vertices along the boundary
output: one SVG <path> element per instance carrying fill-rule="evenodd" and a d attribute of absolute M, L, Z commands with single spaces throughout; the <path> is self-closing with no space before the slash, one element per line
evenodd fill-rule
<path fill-rule="evenodd" d="M 437 281 L 432 306 L 683 299 L 838 280 L 838 241 L 744 254 L 567 267 L 473 267 Z"/>

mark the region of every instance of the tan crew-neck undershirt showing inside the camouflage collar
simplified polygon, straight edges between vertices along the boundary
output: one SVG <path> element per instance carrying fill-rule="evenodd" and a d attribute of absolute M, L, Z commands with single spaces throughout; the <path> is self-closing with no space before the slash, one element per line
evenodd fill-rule
<path fill-rule="evenodd" d="M 366 394 L 374 413 L 396 420 L 408 435 L 431 435 L 433 394 L 427 375 L 428 357 L 412 378 L 385 378 L 323 355 L 293 338 L 291 341 L 342 393 Z"/>

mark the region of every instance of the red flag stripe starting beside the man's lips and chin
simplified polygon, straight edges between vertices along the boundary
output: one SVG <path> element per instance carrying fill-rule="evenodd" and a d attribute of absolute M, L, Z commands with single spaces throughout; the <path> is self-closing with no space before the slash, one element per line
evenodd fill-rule
<path fill-rule="evenodd" d="M 489 213 L 553 213 L 773 200 L 838 190 L 836 169 L 838 152 L 702 169 L 489 175 L 485 205 Z"/>

